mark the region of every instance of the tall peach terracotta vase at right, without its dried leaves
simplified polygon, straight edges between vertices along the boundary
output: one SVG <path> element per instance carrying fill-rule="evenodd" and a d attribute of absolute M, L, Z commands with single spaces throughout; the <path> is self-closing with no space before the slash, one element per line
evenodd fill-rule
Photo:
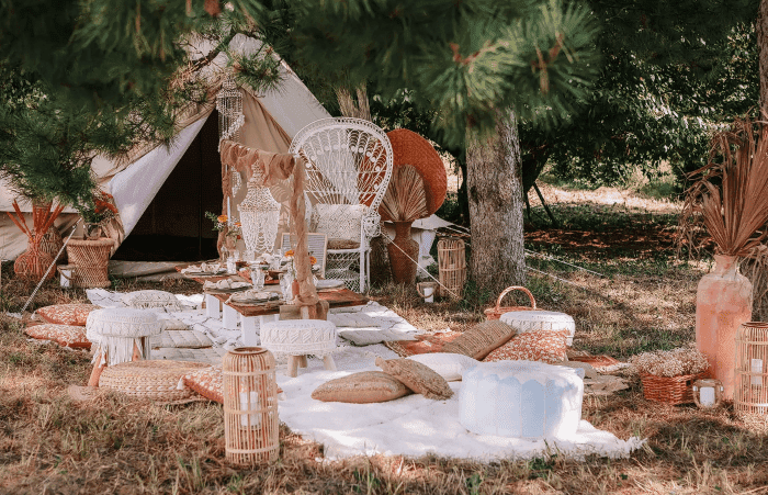
<path fill-rule="evenodd" d="M 752 283 L 738 272 L 735 256 L 715 255 L 714 262 L 696 293 L 696 347 L 723 383 L 723 398 L 733 400 L 736 330 L 752 320 Z"/>

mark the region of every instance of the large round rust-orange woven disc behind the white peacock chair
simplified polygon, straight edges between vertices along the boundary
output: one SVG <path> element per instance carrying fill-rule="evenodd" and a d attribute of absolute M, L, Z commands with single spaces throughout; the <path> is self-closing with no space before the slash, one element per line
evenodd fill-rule
<path fill-rule="evenodd" d="M 419 176 L 423 180 L 423 189 L 427 196 L 427 214 L 421 218 L 437 212 L 445 200 L 445 192 L 448 191 L 445 166 L 440 155 L 427 139 L 407 128 L 391 131 L 386 133 L 386 136 L 392 143 L 394 171 L 397 171 L 404 165 L 411 165 L 418 170 Z M 389 187 L 392 187 L 392 182 Z M 394 218 L 387 217 L 382 209 L 380 209 L 380 213 L 383 220 L 394 221 Z"/>

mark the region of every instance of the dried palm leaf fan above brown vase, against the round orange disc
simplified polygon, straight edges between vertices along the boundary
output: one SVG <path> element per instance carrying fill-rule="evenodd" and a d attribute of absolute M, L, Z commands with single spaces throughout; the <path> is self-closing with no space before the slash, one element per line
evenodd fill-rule
<path fill-rule="evenodd" d="M 423 179 L 416 167 L 404 165 L 393 171 L 379 211 L 391 222 L 414 222 L 429 216 Z"/>

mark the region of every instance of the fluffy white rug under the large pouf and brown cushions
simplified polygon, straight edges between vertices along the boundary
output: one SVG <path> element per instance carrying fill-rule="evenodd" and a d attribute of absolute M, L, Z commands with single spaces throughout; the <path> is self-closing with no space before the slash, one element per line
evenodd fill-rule
<path fill-rule="evenodd" d="M 383 346 L 382 346 L 383 347 Z M 361 356 L 361 358 L 363 358 Z M 379 370 L 372 360 L 359 359 L 354 371 Z M 573 438 L 527 440 L 475 435 L 459 423 L 461 382 L 450 382 L 455 392 L 448 401 L 408 395 L 380 404 L 343 404 L 315 401 L 312 392 L 321 383 L 352 371 L 325 371 L 310 361 L 295 379 L 278 373 L 286 395 L 280 402 L 280 420 L 304 438 L 323 443 L 329 459 L 352 455 L 409 455 L 433 453 L 447 458 L 493 461 L 532 459 L 556 453 L 580 460 L 587 454 L 626 458 L 645 440 L 621 440 L 583 420 Z M 339 365 L 338 368 L 342 368 Z"/>

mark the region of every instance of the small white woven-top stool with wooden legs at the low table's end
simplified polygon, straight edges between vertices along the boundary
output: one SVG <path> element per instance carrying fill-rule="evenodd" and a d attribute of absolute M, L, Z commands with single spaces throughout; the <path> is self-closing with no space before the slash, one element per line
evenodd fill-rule
<path fill-rule="evenodd" d="M 336 325 L 325 319 L 286 319 L 267 322 L 260 330 L 261 347 L 275 355 L 289 356 L 289 374 L 296 376 L 301 357 L 306 367 L 306 356 L 320 356 L 327 370 L 336 370 L 330 356 L 337 347 Z"/>

